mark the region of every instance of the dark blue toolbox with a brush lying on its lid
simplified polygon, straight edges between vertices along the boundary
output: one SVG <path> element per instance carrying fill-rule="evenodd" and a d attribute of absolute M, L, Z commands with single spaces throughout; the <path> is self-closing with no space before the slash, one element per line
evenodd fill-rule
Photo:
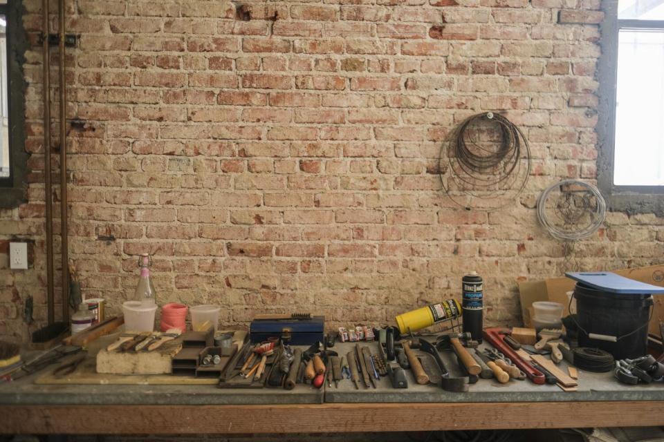
<path fill-rule="evenodd" d="M 312 345 L 323 342 L 325 316 L 309 315 L 261 315 L 249 326 L 251 343 L 261 343 L 269 338 L 281 338 L 292 345 Z"/>

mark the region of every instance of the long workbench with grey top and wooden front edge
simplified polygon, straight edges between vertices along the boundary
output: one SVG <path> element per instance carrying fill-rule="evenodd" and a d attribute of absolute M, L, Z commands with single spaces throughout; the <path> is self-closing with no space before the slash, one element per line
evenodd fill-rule
<path fill-rule="evenodd" d="M 339 354 L 349 347 L 336 345 Z M 55 366 L 54 366 L 55 367 Z M 564 362 L 562 363 L 564 367 Z M 417 385 L 356 390 L 223 390 L 214 385 L 37 385 L 40 374 L 0 384 L 2 434 L 247 434 L 664 425 L 664 383 L 621 385 L 579 374 L 577 392 L 480 379 L 469 392 Z M 267 425 L 269 423 L 269 425 Z"/>

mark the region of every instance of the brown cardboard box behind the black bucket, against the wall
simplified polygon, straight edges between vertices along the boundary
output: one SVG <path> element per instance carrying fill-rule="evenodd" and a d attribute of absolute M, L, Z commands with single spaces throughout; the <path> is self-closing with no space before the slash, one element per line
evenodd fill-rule
<path fill-rule="evenodd" d="M 637 267 L 636 269 L 612 270 L 620 276 L 631 278 L 647 284 L 664 287 L 664 265 L 652 265 L 649 267 Z M 526 327 L 532 327 L 533 302 L 553 301 L 560 302 L 565 306 L 563 316 L 569 314 L 568 291 L 573 291 L 575 281 L 570 278 L 549 278 L 543 281 L 519 282 L 519 298 L 521 300 L 521 313 Z M 654 311 L 650 325 L 649 334 L 661 336 L 659 322 L 664 320 L 664 295 L 654 295 Z"/>

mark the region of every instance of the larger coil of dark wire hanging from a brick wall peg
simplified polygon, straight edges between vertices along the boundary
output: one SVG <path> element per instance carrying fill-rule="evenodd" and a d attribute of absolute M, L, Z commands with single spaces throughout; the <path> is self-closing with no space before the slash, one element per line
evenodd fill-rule
<path fill-rule="evenodd" d="M 503 115 L 472 115 L 451 134 L 441 153 L 445 193 L 464 209 L 492 211 L 522 193 L 531 150 L 522 131 Z"/>

